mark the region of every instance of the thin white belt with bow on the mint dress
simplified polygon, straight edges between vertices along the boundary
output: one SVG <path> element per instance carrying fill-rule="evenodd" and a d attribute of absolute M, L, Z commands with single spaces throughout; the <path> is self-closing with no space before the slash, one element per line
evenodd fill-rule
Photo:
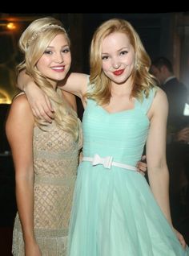
<path fill-rule="evenodd" d="M 82 161 L 91 162 L 93 166 L 97 164 L 103 164 L 103 167 L 110 169 L 111 166 L 121 167 L 124 169 L 128 169 L 131 171 L 136 171 L 137 168 L 125 163 L 119 163 L 113 161 L 113 156 L 106 156 L 100 157 L 99 155 L 95 154 L 94 157 L 83 156 Z"/>

